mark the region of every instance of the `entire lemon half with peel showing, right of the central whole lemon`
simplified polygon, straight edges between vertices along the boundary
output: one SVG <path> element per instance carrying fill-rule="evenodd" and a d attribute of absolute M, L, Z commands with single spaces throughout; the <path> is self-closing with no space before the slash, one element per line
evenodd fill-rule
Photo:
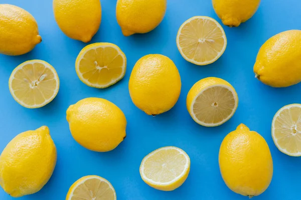
<path fill-rule="evenodd" d="M 192 86 L 186 105 L 197 123 L 218 126 L 233 116 L 238 105 L 238 96 L 234 87 L 226 80 L 207 77 Z"/>

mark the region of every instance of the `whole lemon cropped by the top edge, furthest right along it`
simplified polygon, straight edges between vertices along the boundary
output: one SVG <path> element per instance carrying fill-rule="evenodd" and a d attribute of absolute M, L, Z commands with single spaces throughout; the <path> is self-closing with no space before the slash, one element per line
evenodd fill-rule
<path fill-rule="evenodd" d="M 255 14 L 260 0 L 212 0 L 212 4 L 223 24 L 239 26 Z"/>

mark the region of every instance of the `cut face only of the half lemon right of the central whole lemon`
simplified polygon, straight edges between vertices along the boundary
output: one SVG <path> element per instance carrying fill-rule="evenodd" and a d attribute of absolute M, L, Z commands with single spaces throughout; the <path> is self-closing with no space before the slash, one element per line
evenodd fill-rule
<path fill-rule="evenodd" d="M 224 85 L 216 85 L 201 91 L 192 105 L 195 118 L 207 126 L 223 123 L 237 107 L 234 91 Z"/>

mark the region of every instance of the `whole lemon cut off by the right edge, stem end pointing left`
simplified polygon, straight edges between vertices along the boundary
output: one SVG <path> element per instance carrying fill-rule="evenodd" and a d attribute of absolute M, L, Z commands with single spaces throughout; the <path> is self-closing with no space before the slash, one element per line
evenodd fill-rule
<path fill-rule="evenodd" d="M 287 30 L 269 38 L 259 49 L 255 77 L 272 87 L 301 81 L 301 30 Z"/>

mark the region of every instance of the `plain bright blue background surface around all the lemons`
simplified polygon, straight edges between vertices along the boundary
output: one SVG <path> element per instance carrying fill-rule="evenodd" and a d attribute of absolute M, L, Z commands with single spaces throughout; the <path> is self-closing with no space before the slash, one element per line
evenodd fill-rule
<path fill-rule="evenodd" d="M 247 199 L 225 185 L 218 166 L 219 146 L 225 135 L 239 123 L 259 132 L 269 144 L 274 174 L 268 189 L 254 199 L 300 198 L 301 158 L 281 153 L 271 138 L 271 121 L 276 111 L 289 103 L 300 103 L 300 84 L 272 88 L 254 78 L 253 64 L 260 46 L 272 35 L 288 29 L 300 29 L 299 0 L 262 0 L 256 14 L 239 27 L 223 25 L 228 45 L 214 63 L 197 66 L 187 62 L 176 45 L 180 25 L 195 15 L 215 14 L 211 0 L 168 0 L 162 23 L 146 34 L 122 35 L 115 17 L 116 0 L 101 0 L 102 22 L 92 42 L 117 44 L 127 56 L 127 71 L 117 84 L 96 89 L 82 83 L 75 72 L 75 59 L 86 45 L 68 38 L 59 29 L 52 11 L 52 0 L 0 0 L 28 10 L 37 20 L 42 43 L 21 56 L 0 55 L 0 151 L 18 133 L 42 125 L 50 128 L 57 146 L 58 160 L 54 173 L 41 191 L 19 199 L 65 199 L 70 185 L 78 178 L 96 174 L 108 179 L 119 200 L 125 199 Z M 148 116 L 131 102 L 128 79 L 135 62 L 143 55 L 161 53 L 177 65 L 182 79 L 182 92 L 173 109 L 156 117 Z M 48 105 L 28 109 L 19 105 L 9 91 L 8 80 L 13 69 L 30 59 L 51 63 L 60 77 L 57 97 Z M 203 127 L 186 110 L 186 95 L 191 86 L 208 76 L 228 80 L 239 96 L 234 116 L 218 127 Z M 71 136 L 66 120 L 70 104 L 85 97 L 106 98 L 124 112 L 127 137 L 114 150 L 93 152 L 80 146 Z M 146 185 L 139 175 L 142 158 L 167 145 L 184 149 L 191 158 L 191 171 L 186 182 L 175 191 L 165 192 Z M 0 199 L 13 199 L 0 189 Z"/>

